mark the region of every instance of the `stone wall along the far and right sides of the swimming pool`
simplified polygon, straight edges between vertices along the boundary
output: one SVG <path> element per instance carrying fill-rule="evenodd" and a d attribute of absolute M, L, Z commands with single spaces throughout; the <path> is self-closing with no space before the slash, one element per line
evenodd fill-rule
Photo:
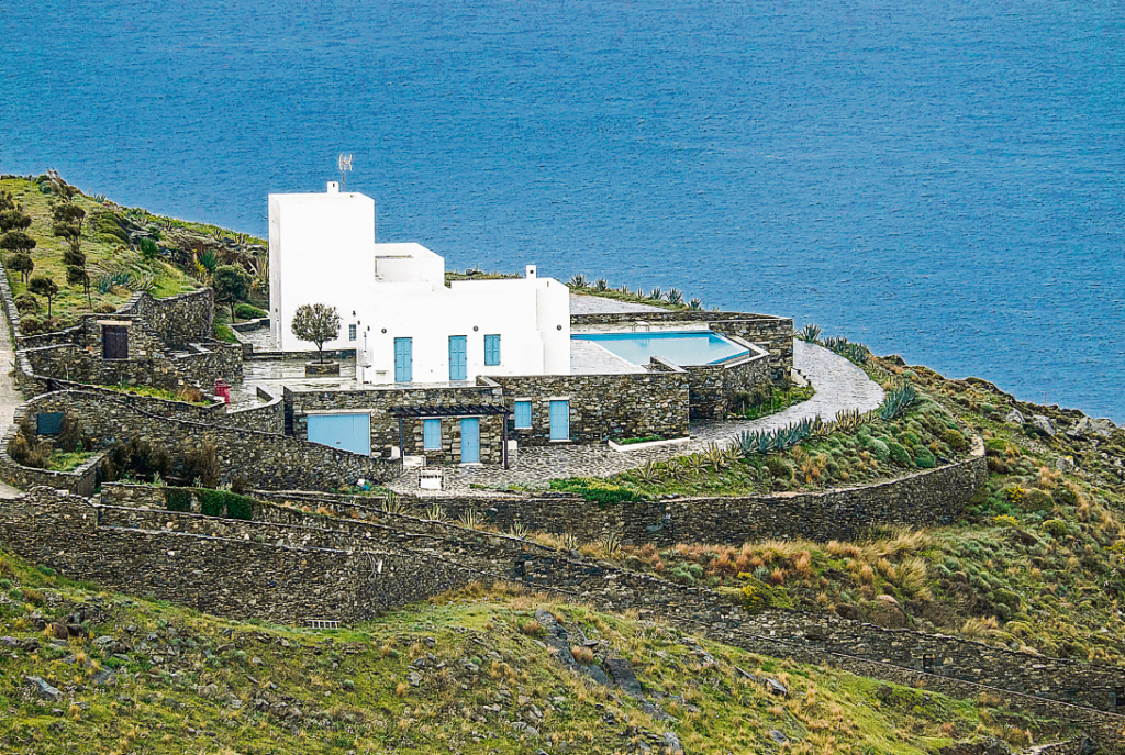
<path fill-rule="evenodd" d="M 570 326 L 588 330 L 597 326 L 628 326 L 637 321 L 669 325 L 708 323 L 717 333 L 737 335 L 762 344 L 770 352 L 770 369 L 774 380 L 793 369 L 793 320 L 740 312 L 706 312 L 677 309 L 668 312 L 622 312 L 570 315 Z"/>

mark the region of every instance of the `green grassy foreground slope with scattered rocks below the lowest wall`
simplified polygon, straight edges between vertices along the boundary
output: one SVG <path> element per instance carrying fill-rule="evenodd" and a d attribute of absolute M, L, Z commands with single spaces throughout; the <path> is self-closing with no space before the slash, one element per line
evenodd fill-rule
<path fill-rule="evenodd" d="M 96 592 L 2 552 L 0 577 L 3 752 L 623 753 L 646 732 L 672 729 L 687 752 L 728 753 L 768 748 L 775 729 L 794 740 L 794 753 L 907 754 L 984 734 L 1012 741 L 1063 734 L 998 710 L 997 700 L 955 701 L 685 641 L 659 623 L 505 590 L 468 591 L 315 633 Z M 621 690 L 552 660 L 529 636 L 537 608 L 629 659 L 675 720 L 655 721 Z M 52 641 L 50 624 L 36 630 L 36 619 L 65 621 L 75 610 L 92 614 L 86 635 Z M 102 637 L 129 647 L 91 639 Z M 38 649 L 20 645 L 27 638 Z M 412 686 L 412 662 L 430 654 Z M 479 671 L 467 669 L 465 658 Z M 791 699 L 770 695 L 736 666 L 782 680 Z M 124 672 L 111 687 L 93 683 L 106 668 Z M 39 700 L 25 675 L 44 677 L 62 696 Z M 528 720 L 532 708 L 542 713 L 531 719 L 539 738 L 521 740 L 506 721 Z"/>

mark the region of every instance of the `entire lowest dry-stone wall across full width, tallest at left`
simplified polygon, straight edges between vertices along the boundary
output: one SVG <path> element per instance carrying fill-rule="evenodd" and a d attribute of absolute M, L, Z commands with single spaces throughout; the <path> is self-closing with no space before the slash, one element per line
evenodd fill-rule
<path fill-rule="evenodd" d="M 771 612 L 748 618 L 704 588 L 576 560 L 454 524 L 429 522 L 431 532 L 404 537 L 361 520 L 292 511 L 278 515 L 320 525 L 110 510 L 76 497 L 60 500 L 37 488 L 25 498 L 0 503 L 0 539 L 26 558 L 71 577 L 134 593 L 151 591 L 223 615 L 279 621 L 362 619 L 371 606 L 400 605 L 471 579 L 518 578 L 569 600 L 636 609 L 640 615 L 659 617 L 754 653 L 828 663 L 954 696 L 1004 691 L 1008 704 L 1074 721 L 1096 732 L 1102 744 L 1119 744 L 1115 732 L 1125 727 L 1125 717 L 1100 712 L 1116 704 L 1115 689 L 1125 672 L 1115 667 L 816 614 Z M 132 527 L 141 529 L 124 529 Z M 282 545 L 270 545 L 278 540 Z M 325 547 L 285 545 L 300 542 Z M 411 547 L 395 550 L 392 542 Z M 919 669 L 926 654 L 934 655 L 934 673 Z M 1076 708 L 1068 700 L 1090 708 Z"/>

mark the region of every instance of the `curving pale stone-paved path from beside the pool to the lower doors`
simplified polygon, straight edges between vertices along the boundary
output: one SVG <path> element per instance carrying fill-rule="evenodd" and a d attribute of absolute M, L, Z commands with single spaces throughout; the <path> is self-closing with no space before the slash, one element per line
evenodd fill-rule
<path fill-rule="evenodd" d="M 711 443 L 730 446 L 746 430 L 773 430 L 804 419 L 820 416 L 830 420 L 840 410 L 857 408 L 862 412 L 875 408 L 883 402 L 880 388 L 862 369 L 822 347 L 795 341 L 793 361 L 796 369 L 816 388 L 816 395 L 807 402 L 791 406 L 784 412 L 760 420 L 732 422 L 693 422 L 691 441 L 677 446 L 664 446 L 642 451 L 614 451 L 609 446 L 536 447 L 520 449 L 511 469 L 495 467 L 451 467 L 446 469 L 446 489 L 434 495 L 450 492 L 478 493 L 469 487 L 472 483 L 489 487 L 511 485 L 544 486 L 558 477 L 609 477 L 628 469 L 636 469 L 647 461 L 664 461 L 705 450 Z M 416 475 L 406 475 L 392 484 L 402 493 L 425 495 L 417 488 Z M 483 495 L 494 493 L 480 492 Z"/>

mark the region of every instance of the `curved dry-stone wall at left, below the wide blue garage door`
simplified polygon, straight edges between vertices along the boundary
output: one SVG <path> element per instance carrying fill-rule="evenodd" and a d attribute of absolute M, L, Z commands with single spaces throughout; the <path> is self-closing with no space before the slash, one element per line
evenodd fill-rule
<path fill-rule="evenodd" d="M 27 411 L 68 412 L 107 447 L 143 438 L 174 456 L 207 439 L 215 444 L 225 478 L 242 476 L 258 487 L 322 489 L 361 477 L 384 480 L 398 473 L 395 466 L 358 453 L 286 435 L 163 417 L 84 390 L 37 396 L 28 402 Z"/>

